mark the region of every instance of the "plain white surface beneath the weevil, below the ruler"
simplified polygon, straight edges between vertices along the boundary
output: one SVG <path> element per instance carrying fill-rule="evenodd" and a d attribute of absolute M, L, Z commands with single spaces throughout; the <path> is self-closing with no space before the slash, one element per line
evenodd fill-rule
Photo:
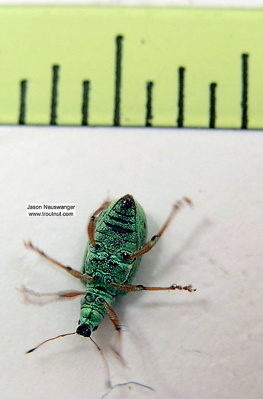
<path fill-rule="evenodd" d="M 109 195 L 143 205 L 149 236 L 183 195 L 185 208 L 145 254 L 136 283 L 189 284 L 195 293 L 135 292 L 115 310 L 125 370 L 105 319 L 94 339 L 108 357 L 108 398 L 261 398 L 263 396 L 262 132 L 1 127 L 2 398 L 99 398 L 101 358 L 87 339 L 42 340 L 73 332 L 79 299 L 25 306 L 16 287 L 82 289 L 79 281 L 26 250 L 31 239 L 79 268 L 90 214 Z M 76 203 L 75 218 L 26 218 L 27 202 Z M 106 397 L 107 398 L 107 397 Z"/>

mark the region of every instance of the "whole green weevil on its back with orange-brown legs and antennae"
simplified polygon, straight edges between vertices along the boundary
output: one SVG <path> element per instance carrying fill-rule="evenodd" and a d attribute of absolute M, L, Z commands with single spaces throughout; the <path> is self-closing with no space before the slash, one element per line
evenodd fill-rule
<path fill-rule="evenodd" d="M 81 271 L 50 258 L 43 251 L 36 248 L 31 242 L 24 243 L 37 251 L 40 255 L 63 268 L 73 277 L 82 280 L 86 286 L 85 291 L 60 291 L 55 293 L 37 293 L 27 288 L 23 291 L 36 296 L 57 295 L 58 298 L 73 298 L 82 296 L 80 317 L 76 332 L 58 335 L 48 339 L 27 353 L 33 352 L 40 345 L 61 336 L 78 334 L 90 338 L 101 351 L 96 342 L 91 338 L 106 314 L 109 315 L 116 331 L 120 344 L 120 322 L 113 310 L 117 297 L 130 291 L 142 290 L 174 290 L 184 289 L 194 291 L 192 285 L 180 286 L 172 284 L 169 287 L 144 287 L 132 285 L 142 255 L 148 252 L 160 239 L 174 215 L 183 203 L 192 204 L 191 199 L 184 197 L 177 201 L 166 222 L 157 235 L 149 241 L 147 237 L 146 217 L 142 206 L 129 194 L 113 201 L 105 201 L 92 215 L 88 223 L 89 242 L 85 252 Z M 120 349 L 120 347 L 119 347 Z M 120 355 L 120 350 L 116 351 Z M 105 360 L 105 359 L 104 359 Z"/>

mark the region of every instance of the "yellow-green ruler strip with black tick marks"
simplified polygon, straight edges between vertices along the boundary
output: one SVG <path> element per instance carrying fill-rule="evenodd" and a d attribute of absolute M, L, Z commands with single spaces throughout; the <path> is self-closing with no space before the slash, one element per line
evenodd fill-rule
<path fill-rule="evenodd" d="M 0 124 L 263 129 L 263 11 L 0 7 Z"/>

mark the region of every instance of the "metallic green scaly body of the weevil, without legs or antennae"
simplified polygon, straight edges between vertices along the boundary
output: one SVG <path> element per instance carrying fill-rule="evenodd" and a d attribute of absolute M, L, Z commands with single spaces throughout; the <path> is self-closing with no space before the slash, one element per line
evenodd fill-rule
<path fill-rule="evenodd" d="M 104 301 L 112 308 L 116 297 L 126 293 L 110 284 L 133 281 L 141 256 L 129 259 L 127 255 L 140 249 L 146 236 L 143 208 L 130 195 L 112 201 L 99 214 L 94 231 L 96 246 L 88 243 L 83 260 L 82 273 L 92 277 L 93 281 L 83 281 L 87 293 L 81 300 L 77 333 L 85 336 L 87 330 L 95 331 L 107 314 Z"/>

